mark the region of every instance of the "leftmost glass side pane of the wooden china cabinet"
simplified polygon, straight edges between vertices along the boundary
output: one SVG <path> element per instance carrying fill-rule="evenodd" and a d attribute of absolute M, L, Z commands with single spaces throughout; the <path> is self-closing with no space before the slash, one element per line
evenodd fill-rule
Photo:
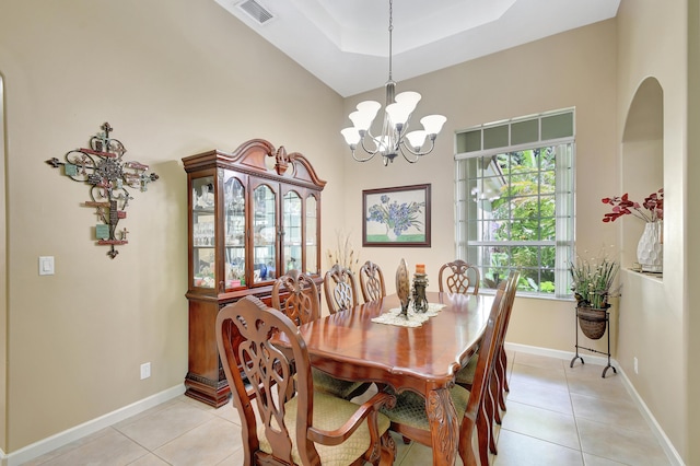
<path fill-rule="evenodd" d="M 192 286 L 215 288 L 214 177 L 191 179 L 192 196 Z"/>

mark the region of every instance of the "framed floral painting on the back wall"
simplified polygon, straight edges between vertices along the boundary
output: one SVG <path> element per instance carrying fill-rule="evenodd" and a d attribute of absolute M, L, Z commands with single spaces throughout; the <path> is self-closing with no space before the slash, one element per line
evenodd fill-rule
<path fill-rule="evenodd" d="M 364 189 L 362 246 L 430 247 L 430 185 Z"/>

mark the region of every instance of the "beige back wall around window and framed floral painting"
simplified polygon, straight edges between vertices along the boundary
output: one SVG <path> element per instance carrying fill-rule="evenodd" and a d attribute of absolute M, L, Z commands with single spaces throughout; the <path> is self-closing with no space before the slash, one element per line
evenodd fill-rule
<path fill-rule="evenodd" d="M 378 160 L 359 164 L 346 151 L 346 225 L 361 245 L 362 189 L 432 184 L 431 248 L 363 248 L 393 277 L 404 257 L 409 267 L 424 263 L 438 287 L 440 266 L 454 258 L 454 133 L 460 129 L 546 110 L 576 108 L 576 244 L 597 252 L 615 244 L 615 229 L 600 219 L 600 198 L 609 196 L 618 174 L 615 165 L 616 23 L 614 20 L 399 82 L 397 92 L 418 91 L 420 115 L 447 117 L 433 153 L 415 165 L 397 159 L 384 167 Z M 383 103 L 383 90 L 346 100 L 346 115 L 366 98 Z M 347 121 L 346 126 L 349 124 Z M 605 166 L 605 170 L 600 170 Z M 387 283 L 394 289 L 394 280 Z M 573 351 L 573 301 L 517 299 L 509 341 Z M 596 342 L 602 348 L 603 342 Z"/>

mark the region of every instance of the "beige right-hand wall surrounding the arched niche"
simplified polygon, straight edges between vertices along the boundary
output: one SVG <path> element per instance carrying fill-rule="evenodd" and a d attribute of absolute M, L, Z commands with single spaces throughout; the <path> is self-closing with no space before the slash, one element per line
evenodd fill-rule
<path fill-rule="evenodd" d="M 656 148 L 663 160 L 664 277 L 654 280 L 623 272 L 620 300 L 620 337 L 617 360 L 653 412 L 678 454 L 689 461 L 686 277 L 689 255 L 686 242 L 686 184 L 691 176 L 686 165 L 687 128 L 687 3 L 625 0 L 618 11 L 617 136 L 622 135 L 634 95 L 645 79 L 656 79 L 663 90 L 663 141 L 621 147 L 625 160 L 622 186 L 638 186 L 644 170 L 630 160 L 649 160 L 644 150 Z M 653 34 L 650 32 L 653 31 Z M 652 138 L 650 138 L 652 139 Z M 657 186 L 648 190 L 651 193 Z M 625 219 L 633 222 L 635 219 Z M 619 228 L 627 225 L 618 225 Z M 641 231 L 641 230 L 640 230 Z M 630 245 L 633 247 L 633 245 Z M 639 359 L 639 374 L 632 360 Z M 660 383 L 660 377 L 672 383 Z"/>

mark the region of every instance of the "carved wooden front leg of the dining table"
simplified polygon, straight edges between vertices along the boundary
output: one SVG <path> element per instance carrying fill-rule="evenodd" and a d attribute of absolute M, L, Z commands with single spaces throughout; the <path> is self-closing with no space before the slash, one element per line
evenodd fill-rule
<path fill-rule="evenodd" d="M 459 422 L 457 411 L 446 388 L 431 389 L 428 393 L 425 412 L 430 421 L 433 443 L 433 465 L 455 464 L 457 443 L 459 442 Z"/>

